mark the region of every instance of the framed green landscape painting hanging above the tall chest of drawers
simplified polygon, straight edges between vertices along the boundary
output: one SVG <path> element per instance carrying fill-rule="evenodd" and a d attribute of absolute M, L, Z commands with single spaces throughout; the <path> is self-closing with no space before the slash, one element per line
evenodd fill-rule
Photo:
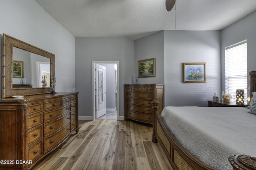
<path fill-rule="evenodd" d="M 156 58 L 138 61 L 138 77 L 156 76 Z"/>

